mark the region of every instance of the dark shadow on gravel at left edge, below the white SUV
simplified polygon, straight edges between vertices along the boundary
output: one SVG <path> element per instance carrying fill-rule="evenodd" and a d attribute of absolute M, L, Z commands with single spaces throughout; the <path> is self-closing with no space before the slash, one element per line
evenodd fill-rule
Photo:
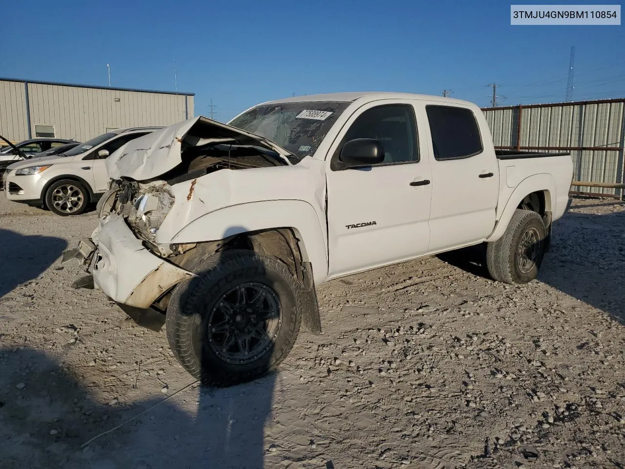
<path fill-rule="evenodd" d="M 0 298 L 41 275 L 61 256 L 68 243 L 53 236 L 21 235 L 0 228 Z"/>

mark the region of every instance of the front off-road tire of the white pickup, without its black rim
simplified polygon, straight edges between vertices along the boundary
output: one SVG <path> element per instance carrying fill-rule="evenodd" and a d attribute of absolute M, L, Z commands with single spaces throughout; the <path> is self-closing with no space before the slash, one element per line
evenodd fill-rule
<path fill-rule="evenodd" d="M 176 360 L 211 386 L 244 383 L 276 368 L 291 351 L 301 325 L 297 298 L 302 285 L 287 266 L 272 256 L 228 250 L 202 260 L 194 273 L 197 277 L 176 286 L 169 300 L 166 332 Z M 279 302 L 279 329 L 264 355 L 249 363 L 229 363 L 209 344 L 209 315 L 223 295 L 245 283 L 262 284 L 274 291 Z"/>

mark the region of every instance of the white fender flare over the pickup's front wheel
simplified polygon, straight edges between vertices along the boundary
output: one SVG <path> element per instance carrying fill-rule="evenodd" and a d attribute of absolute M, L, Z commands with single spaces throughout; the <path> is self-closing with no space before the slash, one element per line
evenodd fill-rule
<path fill-rule="evenodd" d="M 218 241 L 241 233 L 277 228 L 294 230 L 304 261 L 310 262 L 314 283 L 327 278 L 327 243 L 314 207 L 302 200 L 269 200 L 232 205 L 194 219 L 169 243 Z"/>

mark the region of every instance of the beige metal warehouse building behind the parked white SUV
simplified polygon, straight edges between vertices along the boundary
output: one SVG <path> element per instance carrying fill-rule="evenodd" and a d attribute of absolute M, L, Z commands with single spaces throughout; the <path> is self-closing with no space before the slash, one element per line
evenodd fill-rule
<path fill-rule="evenodd" d="M 110 129 L 193 117 L 194 93 L 0 78 L 0 134 L 86 141 Z"/>

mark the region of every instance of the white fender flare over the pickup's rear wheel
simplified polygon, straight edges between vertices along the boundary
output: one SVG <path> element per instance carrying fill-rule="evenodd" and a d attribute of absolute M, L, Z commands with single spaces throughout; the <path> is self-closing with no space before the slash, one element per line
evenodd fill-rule
<path fill-rule="evenodd" d="M 549 173 L 533 174 L 523 179 L 512 191 L 512 194 L 506 201 L 504 209 L 501 211 L 501 216 L 497 219 L 495 228 L 492 233 L 486 238 L 488 243 L 497 241 L 506 232 L 506 228 L 512 219 L 514 211 L 521 203 L 525 196 L 534 192 L 545 192 L 545 209 L 547 211 L 555 211 L 556 209 L 556 181 Z"/>

